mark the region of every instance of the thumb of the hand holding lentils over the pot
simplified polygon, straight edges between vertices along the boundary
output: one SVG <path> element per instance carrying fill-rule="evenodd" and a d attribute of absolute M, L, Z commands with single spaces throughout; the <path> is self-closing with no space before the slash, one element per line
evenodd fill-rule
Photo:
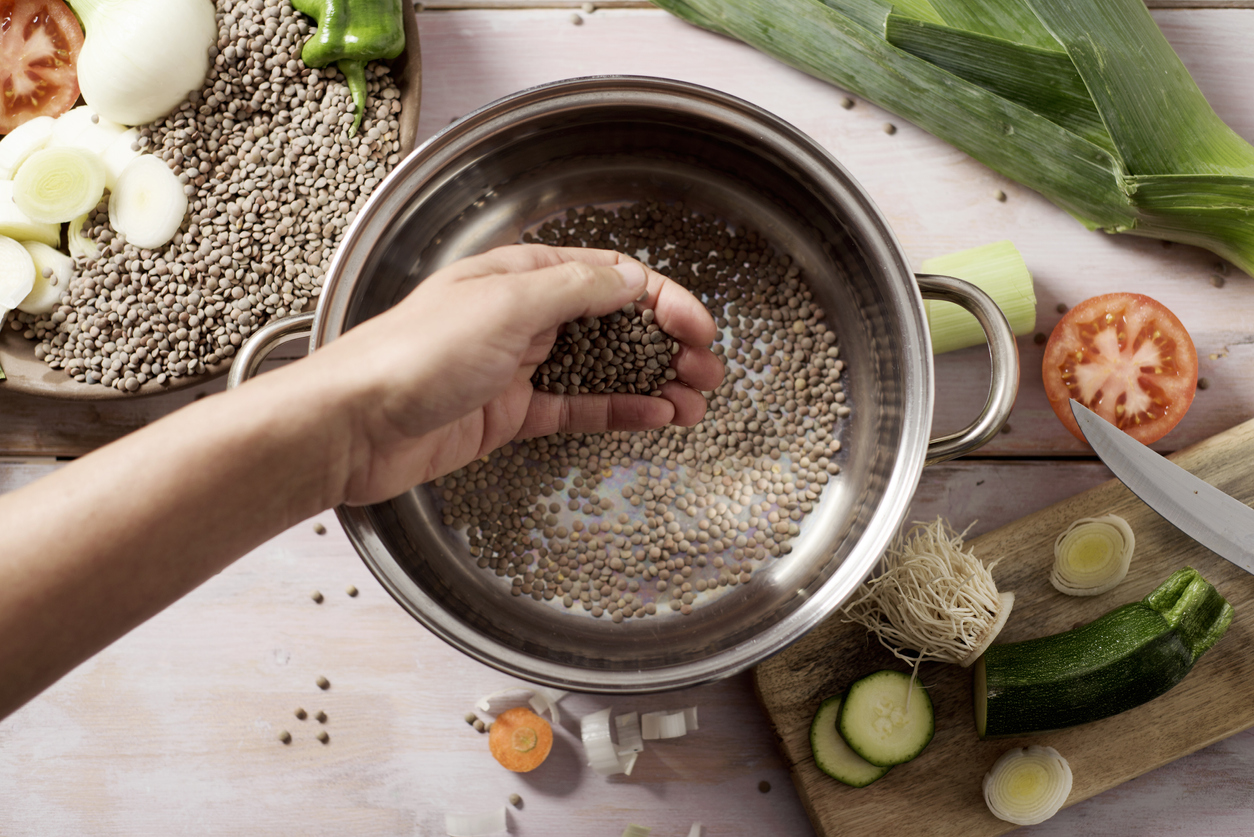
<path fill-rule="evenodd" d="M 613 265 L 567 261 L 499 281 L 510 284 L 514 316 L 538 333 L 581 316 L 602 316 L 640 299 L 648 271 L 635 259 L 618 259 Z"/>

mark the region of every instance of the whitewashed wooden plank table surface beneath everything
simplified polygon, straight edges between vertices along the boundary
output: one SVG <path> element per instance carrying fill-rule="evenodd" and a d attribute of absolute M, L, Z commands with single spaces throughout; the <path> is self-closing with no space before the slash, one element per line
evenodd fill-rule
<path fill-rule="evenodd" d="M 1254 280 L 1234 271 L 1216 287 L 1214 256 L 1086 232 L 912 125 L 864 102 L 845 110 L 843 92 L 655 9 L 477 5 L 444 3 L 420 14 L 420 137 L 498 97 L 576 75 L 650 74 L 719 88 L 828 147 L 913 261 L 1012 240 L 1037 280 L 1042 333 L 1060 302 L 1100 292 L 1135 290 L 1167 304 L 1193 334 L 1209 387 L 1159 449 L 1254 415 Z M 1220 115 L 1254 139 L 1254 8 L 1175 5 L 1155 8 L 1155 18 Z M 887 122 L 895 134 L 884 133 Z M 978 456 L 928 469 L 917 517 L 939 513 L 959 527 L 978 521 L 979 533 L 1109 478 L 1050 410 L 1041 350 L 1031 338 L 1020 341 L 1022 388 L 1009 430 Z M 940 433 L 982 403 L 987 361 L 979 350 L 942 356 L 937 379 Z M 0 456 L 9 457 L 0 461 L 0 491 L 196 395 L 84 405 L 0 390 Z M 707 834 L 813 833 L 747 675 L 653 698 L 572 695 L 551 760 L 535 774 L 500 769 L 464 714 L 512 681 L 410 620 L 334 514 L 317 522 L 326 535 L 315 521 L 293 527 L 0 723 L 0 834 L 443 834 L 445 812 L 499 807 L 510 793 L 523 797 L 509 811 L 513 834 L 616 837 L 640 823 L 668 837 L 686 834 L 693 821 Z M 359 596 L 345 594 L 350 584 Z M 315 589 L 321 605 L 310 599 Z M 331 681 L 326 691 L 315 685 L 320 675 Z M 604 779 L 583 764 L 577 719 L 587 712 L 691 704 L 701 729 L 651 745 L 630 778 Z M 326 724 L 297 720 L 297 706 L 325 710 Z M 291 744 L 277 740 L 280 729 L 292 733 Z M 329 743 L 315 739 L 319 729 Z M 1249 834 L 1251 799 L 1254 732 L 1246 732 L 1026 833 Z"/>

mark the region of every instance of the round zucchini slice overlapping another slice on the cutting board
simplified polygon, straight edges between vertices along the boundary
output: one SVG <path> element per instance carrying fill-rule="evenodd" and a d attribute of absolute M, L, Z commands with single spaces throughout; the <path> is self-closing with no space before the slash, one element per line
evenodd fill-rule
<path fill-rule="evenodd" d="M 836 729 L 849 749 L 872 764 L 903 764 L 932 740 L 932 699 L 923 684 L 908 674 L 875 671 L 849 686 Z"/>

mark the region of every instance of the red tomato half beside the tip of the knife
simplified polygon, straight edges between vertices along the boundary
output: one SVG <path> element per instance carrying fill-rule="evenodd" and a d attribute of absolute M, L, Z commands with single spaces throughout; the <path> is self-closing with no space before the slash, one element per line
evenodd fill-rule
<path fill-rule="evenodd" d="M 1137 442 L 1174 428 L 1198 390 L 1198 350 L 1176 315 L 1140 294 L 1105 294 L 1067 311 L 1045 346 L 1045 394 L 1067 429 L 1076 399 Z"/>

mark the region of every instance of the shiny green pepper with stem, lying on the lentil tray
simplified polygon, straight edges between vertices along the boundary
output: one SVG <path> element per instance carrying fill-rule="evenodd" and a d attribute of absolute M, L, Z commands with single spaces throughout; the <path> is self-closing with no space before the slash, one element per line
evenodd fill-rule
<path fill-rule="evenodd" d="M 292 8 L 317 21 L 305 41 L 301 60 L 306 67 L 331 61 L 344 73 L 352 94 L 356 118 L 349 136 L 357 133 L 366 110 L 366 61 L 396 58 L 405 49 L 406 0 L 292 0 Z"/>

